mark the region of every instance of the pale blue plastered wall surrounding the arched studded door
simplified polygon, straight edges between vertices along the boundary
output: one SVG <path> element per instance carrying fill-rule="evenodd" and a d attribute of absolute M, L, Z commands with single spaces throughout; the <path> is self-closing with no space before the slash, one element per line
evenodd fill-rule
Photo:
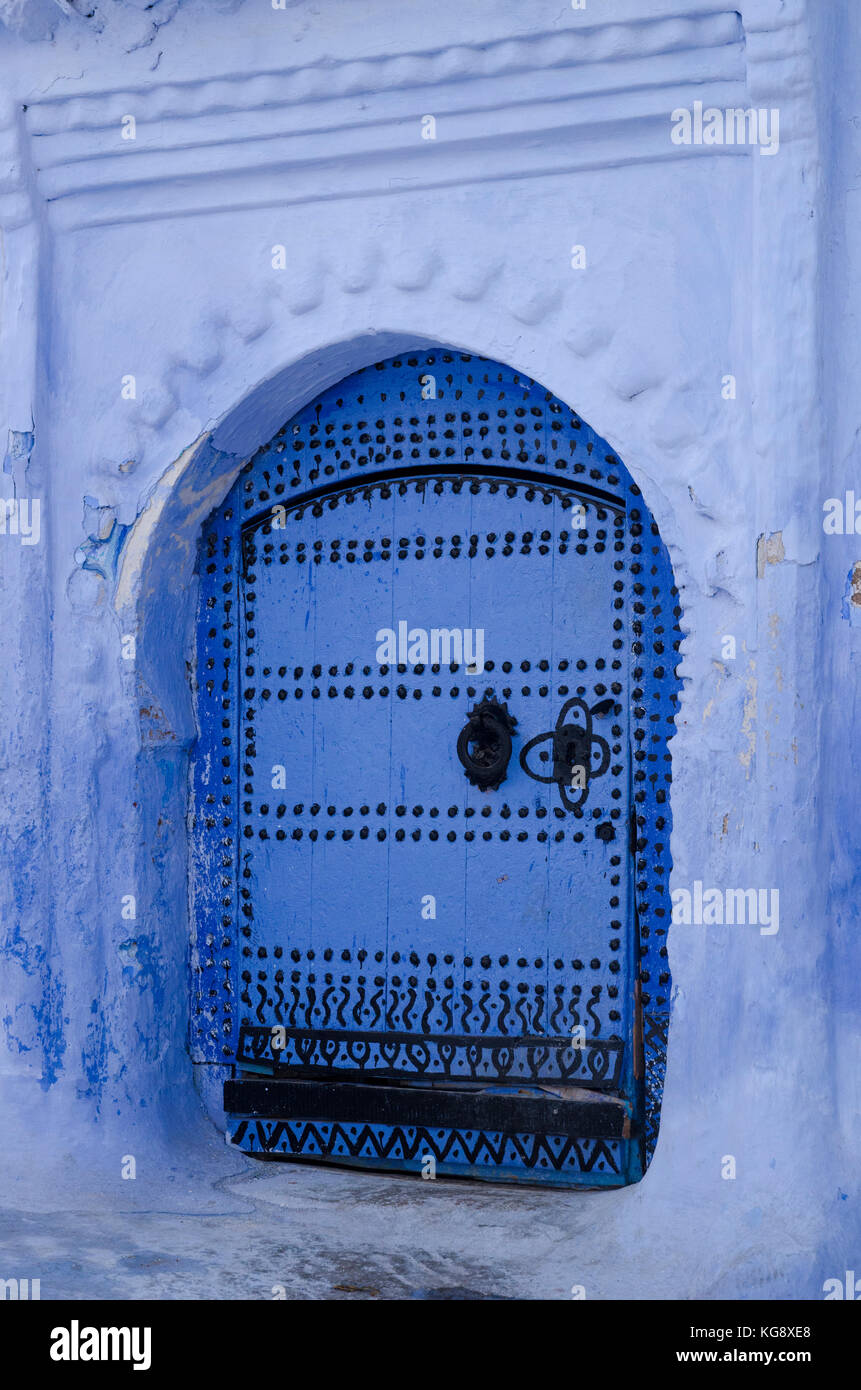
<path fill-rule="evenodd" d="M 163 1176 L 227 1163 L 185 1051 L 196 538 L 293 409 L 441 342 L 541 381 L 643 488 L 687 634 L 673 887 L 780 892 L 775 935 L 673 930 L 657 1156 L 637 1188 L 561 1198 L 572 1283 L 586 1266 L 590 1297 L 821 1297 L 858 1258 L 851 721 L 832 744 L 828 713 L 857 556 L 823 556 L 821 527 L 851 485 L 821 367 L 848 11 L 56 10 L 0 8 L 3 485 L 42 503 L 38 545 L 0 537 L 8 1190 L 110 1200 L 118 1148 Z M 694 101 L 778 108 L 779 150 L 675 145 Z"/>

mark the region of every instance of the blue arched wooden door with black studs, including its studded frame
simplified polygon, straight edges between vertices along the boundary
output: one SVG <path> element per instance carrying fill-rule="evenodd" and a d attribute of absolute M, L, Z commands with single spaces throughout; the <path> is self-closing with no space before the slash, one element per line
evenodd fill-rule
<path fill-rule="evenodd" d="M 192 1037 L 252 1154 L 636 1182 L 669 1019 L 677 595 L 542 386 L 416 350 L 204 527 Z"/>

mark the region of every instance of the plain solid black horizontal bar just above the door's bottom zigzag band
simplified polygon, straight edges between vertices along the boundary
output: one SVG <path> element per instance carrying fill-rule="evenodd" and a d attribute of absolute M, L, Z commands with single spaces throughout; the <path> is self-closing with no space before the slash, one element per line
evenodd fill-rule
<path fill-rule="evenodd" d="M 438 1126 L 501 1134 L 625 1138 L 629 1133 L 629 1115 L 620 1101 L 531 1097 L 515 1088 L 501 1095 L 345 1081 L 236 1080 L 224 1083 L 224 1109 L 230 1115 L 281 1120 Z"/>

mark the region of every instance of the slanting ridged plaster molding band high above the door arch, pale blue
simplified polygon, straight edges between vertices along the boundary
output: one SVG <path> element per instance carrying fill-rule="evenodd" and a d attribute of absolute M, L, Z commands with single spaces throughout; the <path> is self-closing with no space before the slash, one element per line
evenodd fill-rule
<path fill-rule="evenodd" d="M 714 154 L 670 142 L 694 99 L 748 101 L 734 10 L 60 96 L 26 128 L 51 221 L 74 228 Z"/>

